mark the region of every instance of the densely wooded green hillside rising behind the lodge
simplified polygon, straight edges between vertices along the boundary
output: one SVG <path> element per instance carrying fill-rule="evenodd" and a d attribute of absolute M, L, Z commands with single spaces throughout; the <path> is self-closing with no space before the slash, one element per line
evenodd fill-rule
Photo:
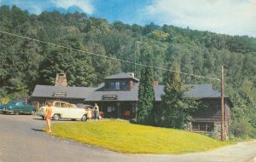
<path fill-rule="evenodd" d="M 243 119 L 248 127 L 256 127 L 256 38 L 154 23 L 109 23 L 79 13 L 35 15 L 7 6 L 0 9 L 0 31 L 89 52 L 0 32 L 0 97 L 30 95 L 36 84 L 54 84 L 57 72 L 67 72 L 69 86 L 97 86 L 117 72 L 135 72 L 140 78 L 142 67 L 97 55 L 145 63 L 147 51 L 154 55 L 155 67 L 172 67 L 177 61 L 182 72 L 209 77 L 181 74 L 184 84 L 207 83 L 218 89 L 218 81 L 210 78 L 220 78 L 220 67 L 224 65 L 225 95 L 235 105 L 233 119 Z M 160 84 L 164 84 L 163 73 L 154 69 L 154 79 Z"/>

